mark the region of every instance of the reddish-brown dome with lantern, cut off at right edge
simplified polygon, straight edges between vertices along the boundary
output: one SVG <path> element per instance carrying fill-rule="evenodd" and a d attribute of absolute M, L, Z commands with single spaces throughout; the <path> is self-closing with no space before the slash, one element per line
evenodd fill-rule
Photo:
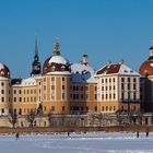
<path fill-rule="evenodd" d="M 149 58 L 141 64 L 139 70 L 141 75 L 153 75 L 153 46 L 149 50 Z"/>

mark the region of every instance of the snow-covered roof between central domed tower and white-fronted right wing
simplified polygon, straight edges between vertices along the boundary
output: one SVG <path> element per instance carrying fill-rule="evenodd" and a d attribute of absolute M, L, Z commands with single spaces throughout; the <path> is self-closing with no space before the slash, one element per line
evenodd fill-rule
<path fill-rule="evenodd" d="M 73 63 L 71 66 L 71 72 L 73 82 L 89 82 L 89 83 L 95 82 L 94 79 L 95 71 L 89 64 Z"/>

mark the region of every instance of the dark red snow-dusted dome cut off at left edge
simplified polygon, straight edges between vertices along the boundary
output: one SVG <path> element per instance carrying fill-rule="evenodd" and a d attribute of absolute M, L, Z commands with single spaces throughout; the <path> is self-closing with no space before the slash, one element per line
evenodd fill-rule
<path fill-rule="evenodd" d="M 0 63 L 0 76 L 10 79 L 10 70 L 3 63 Z"/>

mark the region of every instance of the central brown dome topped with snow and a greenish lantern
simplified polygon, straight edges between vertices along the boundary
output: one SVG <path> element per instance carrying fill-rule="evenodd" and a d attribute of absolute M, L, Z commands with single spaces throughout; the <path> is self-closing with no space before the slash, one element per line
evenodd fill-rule
<path fill-rule="evenodd" d="M 59 43 L 57 40 L 54 46 L 52 56 L 46 59 L 43 67 L 44 74 L 50 72 L 70 72 L 69 60 L 60 55 Z"/>

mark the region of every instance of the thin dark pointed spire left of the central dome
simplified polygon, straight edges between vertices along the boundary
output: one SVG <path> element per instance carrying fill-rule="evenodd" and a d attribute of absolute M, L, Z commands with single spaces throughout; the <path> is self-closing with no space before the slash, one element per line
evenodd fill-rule
<path fill-rule="evenodd" d="M 35 39 L 35 55 L 34 55 L 34 61 L 32 63 L 32 72 L 31 75 L 39 75 L 40 74 L 40 62 L 38 57 L 38 43 L 37 37 Z"/>

